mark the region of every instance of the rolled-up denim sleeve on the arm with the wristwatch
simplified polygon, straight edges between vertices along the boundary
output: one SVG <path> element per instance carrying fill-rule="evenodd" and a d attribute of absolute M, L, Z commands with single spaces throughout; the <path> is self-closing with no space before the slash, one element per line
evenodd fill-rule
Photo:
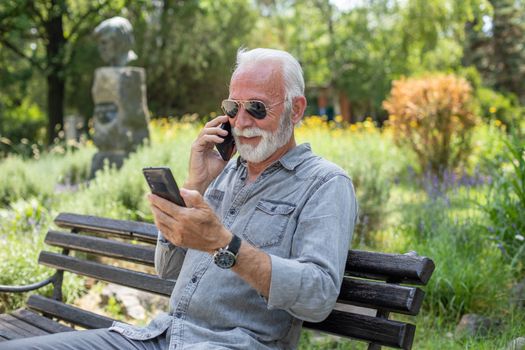
<path fill-rule="evenodd" d="M 291 258 L 270 255 L 268 308 L 311 322 L 330 314 L 341 288 L 357 210 L 348 177 L 334 175 L 319 186 L 297 218 Z"/>

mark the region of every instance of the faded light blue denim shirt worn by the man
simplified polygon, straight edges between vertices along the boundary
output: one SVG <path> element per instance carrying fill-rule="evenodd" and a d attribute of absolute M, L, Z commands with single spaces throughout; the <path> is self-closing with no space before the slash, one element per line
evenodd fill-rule
<path fill-rule="evenodd" d="M 302 320 L 328 316 L 341 287 L 357 218 L 350 178 L 299 145 L 247 183 L 245 162 L 228 163 L 206 201 L 224 226 L 270 255 L 269 297 L 208 253 L 182 249 L 161 234 L 157 273 L 176 279 L 169 314 L 147 327 L 115 322 L 111 330 L 148 339 L 167 330 L 169 349 L 294 349 Z"/>

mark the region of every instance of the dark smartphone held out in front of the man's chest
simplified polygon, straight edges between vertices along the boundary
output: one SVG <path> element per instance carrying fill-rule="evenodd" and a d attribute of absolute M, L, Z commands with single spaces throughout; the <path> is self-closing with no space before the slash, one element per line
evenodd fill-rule
<path fill-rule="evenodd" d="M 151 193 L 167 199 L 181 207 L 186 206 L 170 168 L 148 167 L 142 169 L 142 172 L 144 173 L 144 177 L 151 189 Z"/>

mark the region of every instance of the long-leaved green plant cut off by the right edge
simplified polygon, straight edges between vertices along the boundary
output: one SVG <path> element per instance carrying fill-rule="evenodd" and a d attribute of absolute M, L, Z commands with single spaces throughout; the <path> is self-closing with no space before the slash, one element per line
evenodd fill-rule
<path fill-rule="evenodd" d="M 487 230 L 519 273 L 525 270 L 525 142 L 514 139 L 506 150 L 484 210 Z"/>

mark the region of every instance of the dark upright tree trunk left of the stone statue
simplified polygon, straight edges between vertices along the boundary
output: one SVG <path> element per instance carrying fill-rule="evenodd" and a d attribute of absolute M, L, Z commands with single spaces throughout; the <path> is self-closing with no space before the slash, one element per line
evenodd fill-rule
<path fill-rule="evenodd" d="M 52 144 L 64 126 L 64 28 L 62 14 L 65 11 L 64 0 L 51 0 L 52 9 L 45 24 L 48 42 L 47 50 L 47 140 Z"/>

